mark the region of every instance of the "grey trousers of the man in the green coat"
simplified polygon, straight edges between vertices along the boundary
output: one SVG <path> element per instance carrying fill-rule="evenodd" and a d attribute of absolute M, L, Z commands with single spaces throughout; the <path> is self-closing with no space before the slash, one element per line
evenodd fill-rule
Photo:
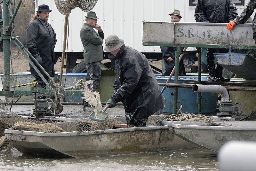
<path fill-rule="evenodd" d="M 91 84 L 88 85 L 90 91 L 98 91 L 98 86 L 100 84 L 100 61 L 92 62 L 89 64 L 85 64 L 87 68 L 86 81 L 92 80 Z"/>

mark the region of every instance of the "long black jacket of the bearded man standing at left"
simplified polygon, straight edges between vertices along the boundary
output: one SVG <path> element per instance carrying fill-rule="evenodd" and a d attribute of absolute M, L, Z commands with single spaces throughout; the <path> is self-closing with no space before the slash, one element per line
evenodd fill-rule
<path fill-rule="evenodd" d="M 45 71 L 50 76 L 54 76 L 54 47 L 57 39 L 52 26 L 39 18 L 32 21 L 27 27 L 26 42 L 28 51 L 35 58 L 40 56 L 43 60 L 42 66 Z M 30 66 L 30 73 L 31 75 L 38 75 L 32 66 Z"/>

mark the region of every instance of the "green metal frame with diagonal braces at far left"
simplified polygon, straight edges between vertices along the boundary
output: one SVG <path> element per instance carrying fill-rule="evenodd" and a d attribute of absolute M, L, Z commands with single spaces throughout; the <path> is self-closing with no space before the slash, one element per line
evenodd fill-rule
<path fill-rule="evenodd" d="M 0 36 L 0 51 L 4 51 L 4 79 L 3 79 L 3 87 L 4 91 L 0 92 L 0 96 L 34 96 L 35 94 L 44 94 L 49 96 L 54 96 L 55 99 L 59 102 L 59 93 L 61 92 L 64 95 L 81 95 L 82 91 L 79 89 L 63 89 L 58 88 L 58 84 L 54 82 L 52 77 L 44 70 L 44 68 L 36 61 L 33 55 L 24 47 L 24 45 L 18 40 L 19 36 L 11 37 L 11 28 L 14 22 L 14 19 L 17 15 L 17 12 L 20 8 L 22 0 L 19 0 L 16 9 L 11 9 L 11 0 L 3 0 L 3 10 L 4 17 L 0 19 L 0 22 L 3 22 L 3 33 Z M 15 0 L 13 1 L 15 6 Z M 11 16 L 11 20 L 10 20 Z M 13 40 L 17 45 L 18 49 L 28 60 L 29 64 L 35 69 L 36 73 L 41 77 L 41 79 L 46 84 L 46 89 L 31 87 L 31 91 L 14 91 L 10 90 L 10 40 Z M 37 65 L 37 66 L 36 66 Z M 40 70 L 39 70 L 40 68 Z M 41 72 L 40 72 L 41 71 Z M 49 82 L 44 78 L 46 75 L 49 78 Z M 57 103 L 56 103 L 57 105 Z"/>

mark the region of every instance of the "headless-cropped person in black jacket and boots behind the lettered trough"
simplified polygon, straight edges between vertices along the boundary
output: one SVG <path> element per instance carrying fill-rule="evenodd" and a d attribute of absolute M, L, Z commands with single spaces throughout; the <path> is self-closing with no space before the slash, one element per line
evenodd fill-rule
<path fill-rule="evenodd" d="M 195 10 L 196 22 L 210 23 L 228 23 L 233 21 L 238 16 L 236 6 L 232 0 L 198 0 Z M 223 67 L 217 63 L 215 69 L 214 55 L 216 49 L 207 49 L 207 66 L 209 73 L 209 81 L 224 81 L 228 82 L 222 75 Z M 219 49 L 220 53 L 226 53 L 227 50 Z"/>

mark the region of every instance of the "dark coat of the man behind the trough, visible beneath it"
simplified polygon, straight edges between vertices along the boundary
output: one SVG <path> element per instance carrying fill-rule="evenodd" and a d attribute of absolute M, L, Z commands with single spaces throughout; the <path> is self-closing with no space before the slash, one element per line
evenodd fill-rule
<path fill-rule="evenodd" d="M 162 69 L 163 75 L 169 76 L 172 72 L 172 69 L 175 66 L 176 47 L 160 46 L 160 49 L 163 55 L 163 69 Z M 167 61 L 169 57 L 171 57 L 173 61 L 171 62 Z M 185 67 L 182 59 L 180 60 L 180 63 L 179 63 L 179 75 L 186 75 L 186 71 L 185 71 Z"/>

